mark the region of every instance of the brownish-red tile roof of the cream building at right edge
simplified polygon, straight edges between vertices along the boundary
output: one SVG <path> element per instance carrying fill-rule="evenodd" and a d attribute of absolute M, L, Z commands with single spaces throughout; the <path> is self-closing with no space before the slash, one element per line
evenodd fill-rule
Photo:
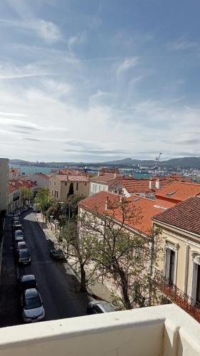
<path fill-rule="evenodd" d="M 153 219 L 200 235 L 199 211 L 200 197 L 191 197 L 164 211 L 164 213 L 154 216 Z"/>

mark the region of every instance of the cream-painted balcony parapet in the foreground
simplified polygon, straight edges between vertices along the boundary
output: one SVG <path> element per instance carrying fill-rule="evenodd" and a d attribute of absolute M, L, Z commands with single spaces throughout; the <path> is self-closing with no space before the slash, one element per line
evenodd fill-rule
<path fill-rule="evenodd" d="M 1 356 L 197 356 L 200 325 L 177 305 L 0 329 Z"/>

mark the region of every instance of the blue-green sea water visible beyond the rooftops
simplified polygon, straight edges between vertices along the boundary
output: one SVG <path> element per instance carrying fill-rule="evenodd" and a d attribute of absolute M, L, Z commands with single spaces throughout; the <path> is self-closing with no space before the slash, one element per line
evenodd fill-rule
<path fill-rule="evenodd" d="M 48 173 L 51 173 L 51 171 L 53 169 L 52 167 L 38 167 L 38 166 L 26 166 L 26 165 L 24 166 L 22 164 L 10 164 L 10 167 L 20 168 L 21 172 L 23 174 L 33 174 L 33 173 L 38 173 L 38 172 L 48 174 Z M 98 174 L 98 171 L 89 171 L 89 173 Z M 151 174 L 146 173 L 146 172 L 145 173 L 132 172 L 132 173 L 136 179 L 142 179 L 142 178 L 148 179 L 149 177 L 151 177 Z M 122 174 L 129 175 L 130 169 L 128 171 L 122 170 Z"/>

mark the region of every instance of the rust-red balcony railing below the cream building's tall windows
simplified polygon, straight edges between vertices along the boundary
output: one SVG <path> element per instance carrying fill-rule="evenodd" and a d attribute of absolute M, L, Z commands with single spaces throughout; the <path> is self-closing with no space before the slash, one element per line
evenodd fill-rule
<path fill-rule="evenodd" d="M 162 271 L 155 272 L 157 288 L 172 302 L 179 305 L 200 323 L 200 303 L 179 289 L 169 279 L 165 278 Z"/>

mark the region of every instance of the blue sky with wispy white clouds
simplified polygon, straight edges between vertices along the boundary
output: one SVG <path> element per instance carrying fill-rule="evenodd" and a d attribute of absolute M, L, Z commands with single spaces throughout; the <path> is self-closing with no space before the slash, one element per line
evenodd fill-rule
<path fill-rule="evenodd" d="M 0 157 L 200 156 L 199 0 L 0 1 Z"/>

